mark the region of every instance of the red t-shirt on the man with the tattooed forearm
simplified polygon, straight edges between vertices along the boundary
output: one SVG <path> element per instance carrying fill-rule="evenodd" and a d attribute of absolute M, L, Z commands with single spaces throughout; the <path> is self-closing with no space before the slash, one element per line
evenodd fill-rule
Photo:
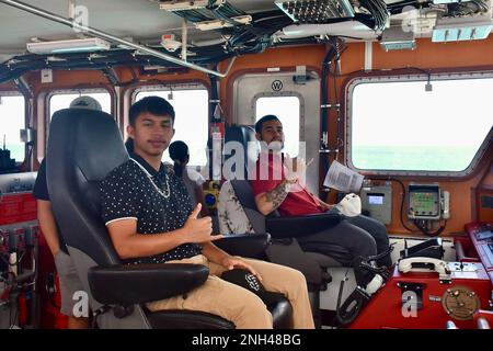
<path fill-rule="evenodd" d="M 261 154 L 255 165 L 256 169 L 254 180 L 250 180 L 253 188 L 253 194 L 256 196 L 261 193 L 274 190 L 284 179 L 286 167 L 280 161 L 280 156 Z M 283 216 L 303 216 L 323 213 L 325 210 L 320 206 L 313 194 L 296 182 L 286 199 L 277 207 Z"/>

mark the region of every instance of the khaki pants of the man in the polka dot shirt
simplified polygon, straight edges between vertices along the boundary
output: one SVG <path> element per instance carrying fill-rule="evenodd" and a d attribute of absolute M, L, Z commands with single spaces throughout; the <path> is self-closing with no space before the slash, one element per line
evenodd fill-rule
<path fill-rule="evenodd" d="M 244 259 L 262 276 L 266 291 L 284 294 L 293 306 L 293 327 L 312 329 L 313 317 L 308 299 L 307 282 L 297 270 L 270 262 Z M 151 302 L 147 307 L 151 312 L 162 309 L 191 309 L 218 315 L 232 321 L 238 329 L 272 329 L 272 315 L 262 299 L 252 292 L 226 282 L 217 275 L 225 268 L 209 262 L 203 254 L 190 259 L 173 260 L 168 263 L 196 263 L 209 268 L 207 281 L 186 296 L 174 296 Z"/>

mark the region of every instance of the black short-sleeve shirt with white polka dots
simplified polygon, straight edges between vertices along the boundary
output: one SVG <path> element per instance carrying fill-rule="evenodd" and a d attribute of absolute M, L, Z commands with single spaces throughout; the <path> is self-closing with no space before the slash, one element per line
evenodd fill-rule
<path fill-rule="evenodd" d="M 158 172 L 138 155 L 130 157 L 130 160 L 115 168 L 101 182 L 104 223 L 134 218 L 137 219 L 137 233 L 147 235 L 182 228 L 193 210 L 183 181 L 162 163 Z M 136 161 L 147 170 L 147 173 Z M 161 194 L 154 185 L 159 186 Z M 200 251 L 202 247 L 198 245 L 184 244 L 157 256 L 125 262 L 163 263 L 191 258 Z"/>

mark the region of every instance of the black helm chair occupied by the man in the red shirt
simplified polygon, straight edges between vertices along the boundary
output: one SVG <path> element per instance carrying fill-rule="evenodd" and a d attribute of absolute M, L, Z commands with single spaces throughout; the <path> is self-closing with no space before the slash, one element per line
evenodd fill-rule
<path fill-rule="evenodd" d="M 228 143 L 238 143 L 241 148 L 236 148 L 234 144 L 228 146 Z M 326 285 L 332 281 L 328 269 L 342 268 L 341 262 L 346 262 L 351 253 L 343 247 L 324 245 L 323 252 L 320 252 L 320 246 L 312 249 L 301 249 L 296 237 L 321 231 L 328 226 L 336 225 L 342 216 L 339 214 L 321 214 L 299 217 L 282 217 L 277 211 L 264 216 L 256 208 L 251 184 L 246 179 L 246 165 L 255 165 L 259 156 L 259 143 L 255 138 L 255 131 L 251 126 L 236 125 L 230 126 L 225 133 L 225 159 L 236 155 L 232 150 L 244 150 L 240 159 L 244 159 L 244 165 L 232 163 L 232 179 L 229 179 L 234 194 L 240 202 L 250 224 L 255 233 L 268 233 L 272 241 L 266 249 L 266 256 L 270 261 L 301 271 L 308 283 L 310 302 L 312 305 L 316 324 L 320 325 L 320 292 L 326 290 Z M 232 155 L 230 155 L 232 154 Z M 236 167 L 240 169 L 236 169 Z M 241 169 L 244 168 L 244 169 Z M 237 172 L 238 171 L 238 172 Z M 244 173 L 243 173 L 244 172 Z M 237 177 L 239 176 L 239 177 Z"/>

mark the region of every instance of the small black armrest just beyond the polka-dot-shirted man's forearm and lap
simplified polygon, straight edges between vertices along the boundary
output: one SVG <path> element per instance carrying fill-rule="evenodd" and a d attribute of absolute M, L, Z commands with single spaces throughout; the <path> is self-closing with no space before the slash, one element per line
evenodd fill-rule
<path fill-rule="evenodd" d="M 227 235 L 222 239 L 214 241 L 214 244 L 229 254 L 259 258 L 264 253 L 270 241 L 271 236 L 267 233 L 233 234 Z"/>

